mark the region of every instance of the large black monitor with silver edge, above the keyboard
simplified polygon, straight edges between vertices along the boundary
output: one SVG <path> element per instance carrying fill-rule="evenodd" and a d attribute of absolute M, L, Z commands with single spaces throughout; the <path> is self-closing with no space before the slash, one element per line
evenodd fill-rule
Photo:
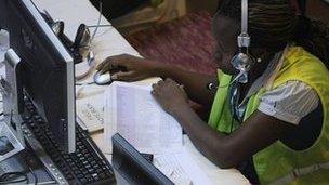
<path fill-rule="evenodd" d="M 22 60 L 24 92 L 49 123 L 60 147 L 73 153 L 74 60 L 30 0 L 0 1 L 5 5 L 10 45 Z"/>

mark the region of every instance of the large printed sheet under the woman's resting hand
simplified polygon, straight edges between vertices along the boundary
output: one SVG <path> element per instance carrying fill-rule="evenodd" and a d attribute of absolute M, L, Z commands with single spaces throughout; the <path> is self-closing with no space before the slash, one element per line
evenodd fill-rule
<path fill-rule="evenodd" d="M 111 154 L 111 136 L 120 133 L 139 151 L 180 153 L 182 128 L 150 94 L 150 85 L 114 82 L 105 92 L 105 141 Z"/>

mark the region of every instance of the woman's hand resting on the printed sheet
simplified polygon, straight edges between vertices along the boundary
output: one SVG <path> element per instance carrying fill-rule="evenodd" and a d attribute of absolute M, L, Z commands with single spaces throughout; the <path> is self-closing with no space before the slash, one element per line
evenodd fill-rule
<path fill-rule="evenodd" d="M 166 79 L 152 85 L 152 94 L 169 114 L 175 115 L 182 106 L 188 104 L 188 97 L 181 85 L 172 79 Z"/>

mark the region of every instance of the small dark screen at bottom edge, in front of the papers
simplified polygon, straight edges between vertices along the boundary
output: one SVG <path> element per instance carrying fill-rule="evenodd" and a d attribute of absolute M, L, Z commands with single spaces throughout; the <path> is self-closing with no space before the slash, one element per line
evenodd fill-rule
<path fill-rule="evenodd" d="M 118 184 L 173 184 L 120 134 L 115 134 L 111 140 L 111 163 Z"/>

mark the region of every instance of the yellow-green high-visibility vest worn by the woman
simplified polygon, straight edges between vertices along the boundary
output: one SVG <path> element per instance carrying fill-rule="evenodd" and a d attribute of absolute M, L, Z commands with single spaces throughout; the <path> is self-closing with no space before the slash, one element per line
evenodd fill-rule
<path fill-rule="evenodd" d="M 329 71 L 317 57 L 300 47 L 290 47 L 282 57 L 282 66 L 271 89 L 290 80 L 312 87 L 323 105 L 323 129 L 317 141 L 307 149 L 293 150 L 277 141 L 256 153 L 253 155 L 255 171 L 261 184 L 329 184 Z M 219 70 L 220 85 L 228 84 L 231 79 L 232 76 Z M 258 109 L 264 92 L 263 87 L 249 98 L 244 120 Z M 232 129 L 227 93 L 228 87 L 218 89 L 209 125 L 229 133 L 238 125 L 234 123 Z"/>

